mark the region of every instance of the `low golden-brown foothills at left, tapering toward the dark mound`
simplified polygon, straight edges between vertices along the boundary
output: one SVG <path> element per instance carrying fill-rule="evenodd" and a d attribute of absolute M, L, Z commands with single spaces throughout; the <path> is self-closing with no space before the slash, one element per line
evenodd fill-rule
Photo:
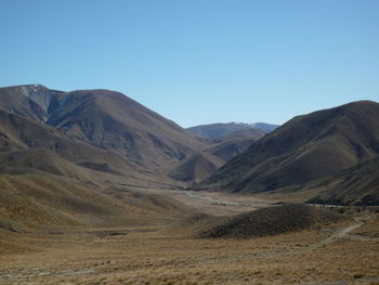
<path fill-rule="evenodd" d="M 187 215 L 173 198 L 99 189 L 48 173 L 0 176 L 0 230 L 25 232 L 62 226 L 159 224 Z"/>

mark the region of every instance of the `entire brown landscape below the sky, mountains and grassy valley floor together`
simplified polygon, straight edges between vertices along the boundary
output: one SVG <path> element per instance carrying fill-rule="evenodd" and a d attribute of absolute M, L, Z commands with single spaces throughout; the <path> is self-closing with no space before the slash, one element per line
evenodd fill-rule
<path fill-rule="evenodd" d="M 183 129 L 0 88 L 0 284 L 378 284 L 379 104 Z"/>

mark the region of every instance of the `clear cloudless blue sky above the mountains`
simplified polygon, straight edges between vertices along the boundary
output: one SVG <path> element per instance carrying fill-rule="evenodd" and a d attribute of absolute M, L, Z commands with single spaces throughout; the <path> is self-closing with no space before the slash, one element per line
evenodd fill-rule
<path fill-rule="evenodd" d="M 183 127 L 379 101 L 377 0 L 0 0 L 0 86 L 105 88 Z"/>

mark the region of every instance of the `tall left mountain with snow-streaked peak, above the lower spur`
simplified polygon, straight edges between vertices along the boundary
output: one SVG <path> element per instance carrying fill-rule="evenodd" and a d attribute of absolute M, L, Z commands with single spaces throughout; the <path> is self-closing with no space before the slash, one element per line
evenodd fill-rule
<path fill-rule="evenodd" d="M 148 169 L 173 164 L 204 147 L 174 122 L 109 90 L 63 92 L 40 85 L 1 88 L 0 109 Z"/>

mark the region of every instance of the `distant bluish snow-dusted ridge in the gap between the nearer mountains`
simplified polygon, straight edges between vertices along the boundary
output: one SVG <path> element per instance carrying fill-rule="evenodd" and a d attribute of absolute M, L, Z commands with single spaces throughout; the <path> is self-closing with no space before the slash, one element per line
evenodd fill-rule
<path fill-rule="evenodd" d="M 243 124 L 243 122 L 227 122 L 227 124 L 211 124 L 201 125 L 196 127 L 187 128 L 187 131 L 205 139 L 215 139 L 223 137 L 232 137 L 236 131 L 250 130 L 249 134 L 251 138 L 258 140 L 265 133 L 271 132 L 277 126 L 269 125 L 264 122 L 256 124 Z M 239 134 L 240 135 L 240 134 Z"/>

